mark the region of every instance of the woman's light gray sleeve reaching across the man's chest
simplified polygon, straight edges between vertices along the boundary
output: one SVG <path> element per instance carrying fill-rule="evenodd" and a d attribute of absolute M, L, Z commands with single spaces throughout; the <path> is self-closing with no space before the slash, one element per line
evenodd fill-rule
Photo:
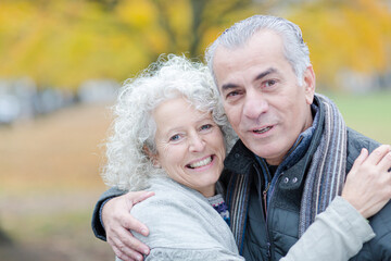
<path fill-rule="evenodd" d="M 368 221 L 337 197 L 280 261 L 349 260 L 374 237 Z"/>

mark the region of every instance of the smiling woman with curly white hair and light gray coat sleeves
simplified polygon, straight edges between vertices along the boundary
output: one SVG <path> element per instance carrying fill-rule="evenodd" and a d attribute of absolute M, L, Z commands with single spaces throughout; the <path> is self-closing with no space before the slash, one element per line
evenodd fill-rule
<path fill-rule="evenodd" d="M 217 183 L 236 138 L 211 85 L 206 66 L 168 55 L 119 95 L 103 178 L 122 190 L 155 192 L 131 209 L 151 232 L 133 232 L 151 249 L 146 260 L 243 260 Z M 325 251 L 348 260 L 373 236 L 365 219 L 338 198 L 283 260 L 321 259 Z M 340 246 L 343 251 L 333 251 Z"/>

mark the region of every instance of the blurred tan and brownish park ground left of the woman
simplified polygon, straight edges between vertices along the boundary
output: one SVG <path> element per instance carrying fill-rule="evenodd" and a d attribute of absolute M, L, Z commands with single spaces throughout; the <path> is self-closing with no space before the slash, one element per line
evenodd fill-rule
<path fill-rule="evenodd" d="M 78 104 L 0 127 L 1 260 L 113 260 L 90 228 L 109 125 L 108 104 Z"/>

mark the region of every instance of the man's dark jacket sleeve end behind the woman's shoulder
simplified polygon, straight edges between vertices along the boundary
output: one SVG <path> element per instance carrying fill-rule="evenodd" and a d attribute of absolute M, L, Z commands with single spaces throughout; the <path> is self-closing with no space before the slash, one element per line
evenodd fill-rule
<path fill-rule="evenodd" d="M 102 239 L 104 241 L 106 240 L 105 231 L 101 222 L 101 215 L 102 215 L 101 211 L 103 206 L 110 199 L 124 195 L 125 192 L 126 191 L 121 190 L 116 187 L 112 187 L 100 196 L 97 204 L 93 208 L 92 220 L 91 220 L 92 232 L 96 235 L 96 237 L 98 237 L 99 239 Z"/>

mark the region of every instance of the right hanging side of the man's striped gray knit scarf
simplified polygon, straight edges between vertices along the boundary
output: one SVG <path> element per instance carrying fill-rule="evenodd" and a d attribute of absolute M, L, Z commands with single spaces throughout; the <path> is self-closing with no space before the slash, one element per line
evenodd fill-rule
<path fill-rule="evenodd" d="M 336 104 L 317 95 L 325 110 L 325 126 L 310 171 L 301 201 L 299 236 L 341 195 L 346 167 L 346 126 Z"/>

